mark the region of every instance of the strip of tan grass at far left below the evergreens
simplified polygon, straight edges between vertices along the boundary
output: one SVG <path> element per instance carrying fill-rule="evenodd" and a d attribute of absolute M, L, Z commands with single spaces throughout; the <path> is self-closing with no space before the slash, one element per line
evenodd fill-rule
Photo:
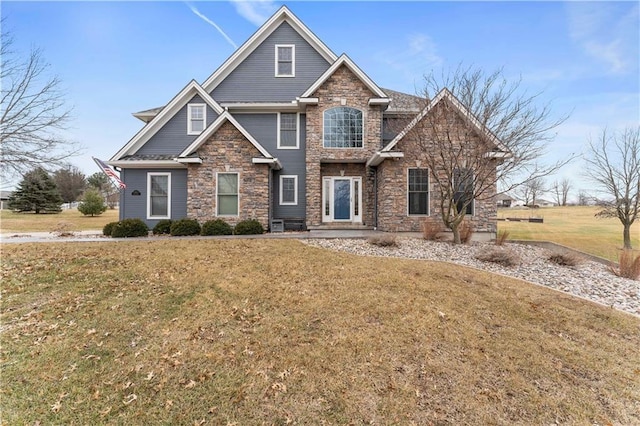
<path fill-rule="evenodd" d="M 102 229 L 109 222 L 118 220 L 118 210 L 107 210 L 100 216 L 85 216 L 76 209 L 53 214 L 14 213 L 0 210 L 0 230 L 11 232 L 52 232 L 60 222 L 68 222 L 72 231 Z"/>

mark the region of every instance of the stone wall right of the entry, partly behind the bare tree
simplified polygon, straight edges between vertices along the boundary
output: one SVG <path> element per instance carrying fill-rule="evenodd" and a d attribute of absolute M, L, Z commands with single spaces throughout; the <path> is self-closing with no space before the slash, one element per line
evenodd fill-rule
<path fill-rule="evenodd" d="M 434 111 L 439 113 L 440 111 Z M 451 112 L 451 110 L 449 110 Z M 458 115 L 448 114 L 448 126 L 458 126 L 457 130 L 451 134 L 465 134 L 465 140 L 459 143 L 476 144 L 480 139 L 474 132 L 468 131 L 466 123 Z M 443 126 L 444 128 L 444 126 Z M 420 232 L 421 224 L 430 221 L 442 224 L 440 210 L 440 197 L 434 190 L 433 175 L 429 175 L 429 216 L 409 216 L 407 214 L 407 191 L 409 168 L 426 167 L 420 159 L 420 150 L 424 145 L 418 146 L 412 140 L 412 134 L 405 136 L 396 145 L 396 151 L 404 153 L 404 158 L 392 160 L 387 159 L 378 166 L 378 229 L 389 232 Z M 427 138 L 425 138 L 427 139 Z M 488 160 L 489 161 L 489 160 Z M 436 171 L 440 179 L 446 179 L 443 171 Z M 495 194 L 495 188 L 492 191 Z M 494 197 L 483 200 L 475 200 L 474 214 L 467 216 L 465 220 L 471 221 L 476 232 L 496 232 L 497 206 Z"/>

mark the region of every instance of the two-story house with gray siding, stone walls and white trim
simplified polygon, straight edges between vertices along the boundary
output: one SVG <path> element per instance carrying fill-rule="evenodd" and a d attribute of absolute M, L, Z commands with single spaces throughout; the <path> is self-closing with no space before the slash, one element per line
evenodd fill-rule
<path fill-rule="evenodd" d="M 432 177 L 392 124 L 444 102 L 484 136 L 447 90 L 427 103 L 379 87 L 283 6 L 206 81 L 134 114 L 144 127 L 109 160 L 126 183 L 120 218 L 420 231 L 441 220 Z M 494 201 L 468 214 L 495 233 Z"/>

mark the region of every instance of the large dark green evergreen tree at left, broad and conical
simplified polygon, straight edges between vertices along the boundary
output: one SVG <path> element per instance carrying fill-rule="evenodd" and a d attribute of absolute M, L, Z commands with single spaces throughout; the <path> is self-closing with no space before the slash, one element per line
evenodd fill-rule
<path fill-rule="evenodd" d="M 41 167 L 25 173 L 18 189 L 9 197 L 9 208 L 19 212 L 58 213 L 62 197 L 49 173 Z"/>

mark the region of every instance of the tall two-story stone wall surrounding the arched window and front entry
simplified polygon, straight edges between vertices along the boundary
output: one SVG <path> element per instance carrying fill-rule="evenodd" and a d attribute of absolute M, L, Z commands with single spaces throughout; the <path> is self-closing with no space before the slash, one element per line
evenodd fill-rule
<path fill-rule="evenodd" d="M 322 223 L 322 170 L 321 163 L 360 163 L 358 167 L 363 188 L 363 221 L 372 220 L 373 196 L 370 188 L 372 177 L 368 176 L 364 162 L 380 149 L 382 140 L 382 109 L 380 106 L 369 106 L 369 99 L 375 95 L 360 81 L 360 79 L 345 65 L 327 79 L 313 94 L 318 98 L 318 105 L 308 106 L 307 118 L 307 226 L 317 226 Z M 362 148 L 324 148 L 323 147 L 323 113 L 325 110 L 338 106 L 358 108 L 363 112 L 363 147 Z M 342 166 L 344 167 L 344 165 Z M 327 175 L 334 173 L 332 167 L 326 168 Z M 353 170 L 353 169 L 352 169 Z M 336 174 L 335 176 L 339 176 Z M 346 172 L 345 172 L 346 176 Z M 363 201 L 365 201 L 363 200 Z"/>

